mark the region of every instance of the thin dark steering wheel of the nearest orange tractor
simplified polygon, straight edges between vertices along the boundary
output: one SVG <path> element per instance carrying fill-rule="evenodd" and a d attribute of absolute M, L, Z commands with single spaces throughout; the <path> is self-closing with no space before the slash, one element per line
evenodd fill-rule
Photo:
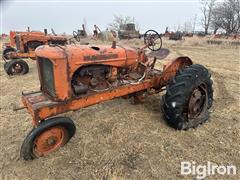
<path fill-rule="evenodd" d="M 154 30 L 148 30 L 144 34 L 144 44 L 152 51 L 158 51 L 162 47 L 162 38 Z"/>

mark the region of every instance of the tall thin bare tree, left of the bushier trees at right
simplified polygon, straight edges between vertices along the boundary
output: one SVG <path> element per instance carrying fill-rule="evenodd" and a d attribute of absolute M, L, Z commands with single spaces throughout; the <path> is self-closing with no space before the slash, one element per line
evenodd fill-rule
<path fill-rule="evenodd" d="M 208 29 L 212 19 L 212 10 L 215 5 L 215 1 L 216 0 L 201 0 L 202 4 L 201 11 L 203 13 L 202 26 L 204 28 L 205 34 L 208 34 Z"/>

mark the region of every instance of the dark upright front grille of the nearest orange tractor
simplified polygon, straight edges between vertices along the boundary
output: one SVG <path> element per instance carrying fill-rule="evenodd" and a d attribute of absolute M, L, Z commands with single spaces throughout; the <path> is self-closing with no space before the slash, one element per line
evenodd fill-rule
<path fill-rule="evenodd" d="M 37 57 L 37 61 L 42 90 L 50 96 L 55 97 L 53 63 L 49 59 L 42 57 Z"/>

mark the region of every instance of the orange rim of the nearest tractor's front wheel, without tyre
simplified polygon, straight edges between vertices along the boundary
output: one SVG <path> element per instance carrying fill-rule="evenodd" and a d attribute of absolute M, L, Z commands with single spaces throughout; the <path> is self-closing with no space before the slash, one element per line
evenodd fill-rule
<path fill-rule="evenodd" d="M 52 127 L 35 139 L 33 152 L 37 156 L 45 156 L 63 146 L 66 140 L 67 131 L 64 127 Z"/>

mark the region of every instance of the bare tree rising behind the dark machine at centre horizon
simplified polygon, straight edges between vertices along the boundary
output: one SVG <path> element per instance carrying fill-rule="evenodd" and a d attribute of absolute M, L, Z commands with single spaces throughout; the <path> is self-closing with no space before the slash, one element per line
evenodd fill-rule
<path fill-rule="evenodd" d="M 120 26 L 127 23 L 136 23 L 134 17 L 114 15 L 113 22 L 110 23 L 108 26 L 114 31 L 119 31 Z M 137 23 L 136 23 L 136 29 L 139 29 L 139 26 Z"/>

